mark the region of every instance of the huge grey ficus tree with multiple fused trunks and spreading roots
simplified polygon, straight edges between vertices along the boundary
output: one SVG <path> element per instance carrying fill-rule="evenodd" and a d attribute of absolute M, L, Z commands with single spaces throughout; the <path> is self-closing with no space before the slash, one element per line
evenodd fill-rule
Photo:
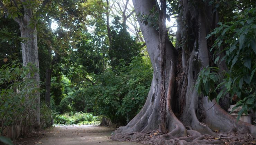
<path fill-rule="evenodd" d="M 127 126 L 119 127 L 112 137 L 120 141 L 144 140 L 153 144 L 192 141 L 207 144 L 211 142 L 203 140 L 202 134 L 240 131 L 254 135 L 254 125 L 237 122 L 215 99 L 209 100 L 194 87 L 200 70 L 212 66 L 211 46 L 206 37 L 217 26 L 216 9 L 207 0 L 180 0 L 175 48 L 167 37 L 166 0 L 160 0 L 160 4 L 156 2 L 133 0 L 154 75 L 143 109 Z M 154 22 L 152 16 L 157 16 L 158 21 Z M 225 70 L 227 66 L 218 67 Z M 223 99 L 223 106 L 225 102 Z M 156 130 L 163 135 L 152 137 L 158 133 Z"/>

